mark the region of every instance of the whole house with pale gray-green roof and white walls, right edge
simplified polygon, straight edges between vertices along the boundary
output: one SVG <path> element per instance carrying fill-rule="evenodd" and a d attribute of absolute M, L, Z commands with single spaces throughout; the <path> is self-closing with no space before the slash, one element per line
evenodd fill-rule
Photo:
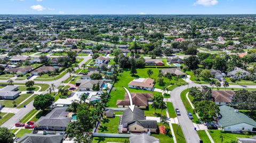
<path fill-rule="evenodd" d="M 256 122 L 249 116 L 238 112 L 232 107 L 220 106 L 218 124 L 224 131 L 256 132 Z"/>

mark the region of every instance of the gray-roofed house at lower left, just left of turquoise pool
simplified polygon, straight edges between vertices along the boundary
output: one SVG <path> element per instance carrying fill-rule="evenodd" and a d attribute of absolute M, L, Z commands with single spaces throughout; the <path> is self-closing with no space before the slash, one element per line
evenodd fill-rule
<path fill-rule="evenodd" d="M 40 117 L 35 130 L 65 131 L 71 117 L 66 112 L 67 107 L 56 107 L 46 116 Z"/>

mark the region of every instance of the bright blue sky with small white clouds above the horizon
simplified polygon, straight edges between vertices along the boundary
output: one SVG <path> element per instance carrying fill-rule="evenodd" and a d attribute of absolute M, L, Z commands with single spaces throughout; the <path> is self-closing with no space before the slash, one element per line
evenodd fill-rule
<path fill-rule="evenodd" d="M 0 14 L 256 14 L 256 0 L 0 0 Z"/>

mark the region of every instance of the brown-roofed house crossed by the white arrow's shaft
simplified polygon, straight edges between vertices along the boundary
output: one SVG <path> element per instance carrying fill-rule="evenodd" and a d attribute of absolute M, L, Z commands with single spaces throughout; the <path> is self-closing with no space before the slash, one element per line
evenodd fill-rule
<path fill-rule="evenodd" d="M 151 93 L 131 93 L 133 104 L 138 108 L 147 108 L 148 101 L 151 101 L 153 94 Z M 117 100 L 116 105 L 118 108 L 128 108 L 130 105 L 129 96 L 127 93 L 124 94 L 124 100 Z"/>

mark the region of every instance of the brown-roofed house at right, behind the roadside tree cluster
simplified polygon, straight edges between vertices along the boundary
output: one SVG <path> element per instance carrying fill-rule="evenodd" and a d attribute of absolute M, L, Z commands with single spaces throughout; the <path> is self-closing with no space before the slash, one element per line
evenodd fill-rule
<path fill-rule="evenodd" d="M 230 104 L 234 94 L 235 92 L 232 90 L 212 90 L 212 97 L 217 105 Z"/>

